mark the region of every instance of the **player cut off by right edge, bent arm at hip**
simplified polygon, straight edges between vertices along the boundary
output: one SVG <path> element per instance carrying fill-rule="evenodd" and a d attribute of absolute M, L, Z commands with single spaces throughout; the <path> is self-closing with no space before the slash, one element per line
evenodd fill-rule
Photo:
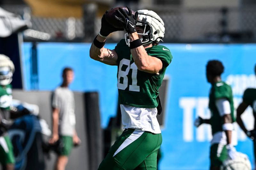
<path fill-rule="evenodd" d="M 254 67 L 255 75 L 256 75 L 256 65 Z M 244 91 L 243 101 L 236 109 L 236 121 L 240 128 L 244 131 L 244 133 L 253 140 L 253 148 L 254 148 L 254 158 L 256 158 L 256 123 L 254 121 L 254 129 L 247 130 L 244 126 L 244 122 L 241 119 L 241 115 L 244 113 L 245 109 L 251 106 L 254 119 L 256 120 L 256 89 L 248 88 Z"/>

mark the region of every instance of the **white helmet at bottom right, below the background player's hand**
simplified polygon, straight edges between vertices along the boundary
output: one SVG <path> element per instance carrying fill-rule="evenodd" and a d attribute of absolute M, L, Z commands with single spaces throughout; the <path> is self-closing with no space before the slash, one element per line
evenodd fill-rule
<path fill-rule="evenodd" d="M 226 159 L 223 161 L 220 170 L 251 170 L 252 166 L 248 156 L 237 152 L 235 159 Z"/>

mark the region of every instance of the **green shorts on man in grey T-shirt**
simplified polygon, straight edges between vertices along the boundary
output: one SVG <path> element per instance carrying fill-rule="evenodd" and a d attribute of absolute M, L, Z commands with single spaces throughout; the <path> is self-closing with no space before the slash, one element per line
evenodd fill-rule
<path fill-rule="evenodd" d="M 68 156 L 73 148 L 73 137 L 60 136 L 59 156 Z"/>

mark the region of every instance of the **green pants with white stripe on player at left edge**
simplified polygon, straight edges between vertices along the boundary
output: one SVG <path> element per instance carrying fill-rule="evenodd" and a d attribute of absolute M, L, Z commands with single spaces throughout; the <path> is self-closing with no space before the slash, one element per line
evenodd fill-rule
<path fill-rule="evenodd" d="M 2 165 L 15 163 L 12 142 L 9 136 L 0 137 L 0 162 Z"/>

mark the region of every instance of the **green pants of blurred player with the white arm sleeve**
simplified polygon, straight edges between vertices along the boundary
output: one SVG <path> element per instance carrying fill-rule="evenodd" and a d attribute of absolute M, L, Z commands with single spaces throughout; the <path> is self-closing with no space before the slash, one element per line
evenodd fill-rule
<path fill-rule="evenodd" d="M 210 149 L 211 166 L 221 166 L 222 162 L 228 158 L 228 151 L 224 144 L 212 144 Z"/>

